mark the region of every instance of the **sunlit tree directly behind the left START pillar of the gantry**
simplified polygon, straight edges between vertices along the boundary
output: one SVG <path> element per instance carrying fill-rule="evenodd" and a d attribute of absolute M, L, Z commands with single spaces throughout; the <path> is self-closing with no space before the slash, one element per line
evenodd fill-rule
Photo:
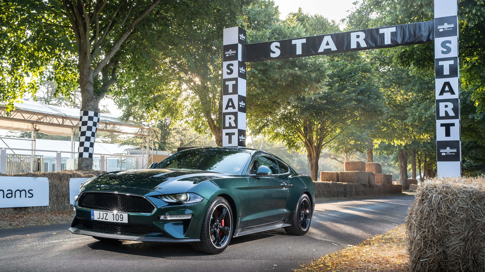
<path fill-rule="evenodd" d="M 305 36 L 294 19 L 281 21 L 273 1 L 221 1 L 213 16 L 199 18 L 200 27 L 190 35 L 174 34 L 176 42 L 158 46 L 153 68 L 140 70 L 124 80 L 116 91 L 125 116 L 140 121 L 164 117 L 184 120 L 199 134 L 211 134 L 222 146 L 222 33 L 227 27 L 242 26 L 248 43 Z M 175 22 L 177 28 L 177 22 Z M 170 53 L 173 52 L 173 53 Z M 311 91 L 312 82 L 323 80 L 325 62 L 303 59 L 249 63 L 247 66 L 247 118 L 271 114 L 293 94 Z M 152 82 L 139 78 L 152 75 Z M 143 91 L 140 91 L 143 90 Z"/>

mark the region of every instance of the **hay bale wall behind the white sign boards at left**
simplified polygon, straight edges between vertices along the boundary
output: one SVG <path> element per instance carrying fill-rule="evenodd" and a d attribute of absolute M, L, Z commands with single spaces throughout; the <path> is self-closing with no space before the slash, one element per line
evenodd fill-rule
<path fill-rule="evenodd" d="M 11 177 L 34 177 L 49 179 L 49 206 L 39 207 L 18 207 L 18 208 L 0 208 L 1 214 L 16 214 L 20 212 L 66 212 L 72 210 L 69 205 L 69 179 L 70 178 L 90 178 L 102 173 L 96 170 L 63 170 L 60 172 L 34 172 L 0 176 Z"/>

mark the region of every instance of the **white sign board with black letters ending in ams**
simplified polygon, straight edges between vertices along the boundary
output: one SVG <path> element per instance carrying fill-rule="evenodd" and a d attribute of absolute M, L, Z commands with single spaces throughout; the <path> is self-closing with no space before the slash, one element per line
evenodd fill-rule
<path fill-rule="evenodd" d="M 49 206 L 49 180 L 0 177 L 0 208 Z"/>

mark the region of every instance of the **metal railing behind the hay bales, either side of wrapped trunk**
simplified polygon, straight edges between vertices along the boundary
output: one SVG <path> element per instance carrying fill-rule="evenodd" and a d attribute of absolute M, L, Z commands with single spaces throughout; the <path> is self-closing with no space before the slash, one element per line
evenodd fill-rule
<path fill-rule="evenodd" d="M 50 152 L 53 156 L 16 154 L 15 151 Z M 7 153 L 9 152 L 9 153 Z M 63 153 L 69 156 L 63 157 Z M 28 172 L 56 172 L 77 169 L 78 152 L 0 148 L 0 173 L 18 174 Z M 126 154 L 94 153 L 93 169 L 116 171 L 137 169 L 138 156 Z"/>

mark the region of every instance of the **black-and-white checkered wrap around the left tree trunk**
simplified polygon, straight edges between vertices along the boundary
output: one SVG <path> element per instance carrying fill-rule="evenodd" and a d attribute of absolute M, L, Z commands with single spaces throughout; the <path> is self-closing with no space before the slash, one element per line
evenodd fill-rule
<path fill-rule="evenodd" d="M 81 111 L 79 117 L 79 158 L 92 158 L 99 112 Z"/>

